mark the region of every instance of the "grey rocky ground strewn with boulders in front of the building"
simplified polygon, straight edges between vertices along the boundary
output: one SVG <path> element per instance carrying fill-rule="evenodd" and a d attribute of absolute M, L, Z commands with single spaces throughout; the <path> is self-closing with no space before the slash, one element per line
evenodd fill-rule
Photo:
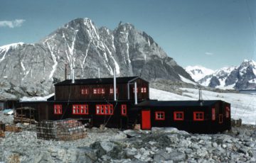
<path fill-rule="evenodd" d="M 1 115 L 1 114 L 0 114 Z M 11 123 L 11 116 L 0 120 Z M 190 134 L 176 128 L 92 128 L 74 141 L 39 140 L 34 125 L 0 138 L 0 162 L 255 162 L 254 125 L 222 134 Z"/>

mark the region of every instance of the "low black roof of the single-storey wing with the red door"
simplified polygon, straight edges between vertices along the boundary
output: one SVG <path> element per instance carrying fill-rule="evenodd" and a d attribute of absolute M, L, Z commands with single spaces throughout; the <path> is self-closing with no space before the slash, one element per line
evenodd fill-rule
<path fill-rule="evenodd" d="M 207 100 L 207 101 L 144 101 L 139 103 L 137 106 L 146 107 L 157 107 L 157 106 L 213 106 L 215 103 L 224 102 L 220 100 Z"/>

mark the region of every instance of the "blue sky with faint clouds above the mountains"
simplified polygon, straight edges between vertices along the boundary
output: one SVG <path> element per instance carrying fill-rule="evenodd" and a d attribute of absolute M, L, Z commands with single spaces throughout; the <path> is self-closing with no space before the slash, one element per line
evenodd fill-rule
<path fill-rule="evenodd" d="M 183 67 L 256 60 L 255 0 L 3 0 L 0 46 L 36 43 L 74 18 L 114 30 L 132 23 Z"/>

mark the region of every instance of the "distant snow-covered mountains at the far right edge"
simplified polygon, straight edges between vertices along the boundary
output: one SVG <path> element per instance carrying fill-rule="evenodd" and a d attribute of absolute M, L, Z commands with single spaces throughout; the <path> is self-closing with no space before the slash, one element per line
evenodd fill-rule
<path fill-rule="evenodd" d="M 219 89 L 256 89 L 256 62 L 244 60 L 237 67 L 224 67 L 215 71 L 205 67 L 186 67 L 188 74 L 203 86 Z"/>

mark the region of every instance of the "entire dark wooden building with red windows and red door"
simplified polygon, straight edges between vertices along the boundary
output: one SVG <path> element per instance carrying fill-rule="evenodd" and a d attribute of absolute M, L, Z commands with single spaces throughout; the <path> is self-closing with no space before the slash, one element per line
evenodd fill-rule
<path fill-rule="evenodd" d="M 116 83 L 114 96 L 114 83 Z M 230 129 L 230 103 L 224 101 L 157 101 L 149 99 L 149 82 L 139 77 L 65 80 L 55 84 L 48 101 L 22 102 L 36 108 L 35 119 L 75 118 L 90 126 L 175 127 L 191 133 Z"/>

